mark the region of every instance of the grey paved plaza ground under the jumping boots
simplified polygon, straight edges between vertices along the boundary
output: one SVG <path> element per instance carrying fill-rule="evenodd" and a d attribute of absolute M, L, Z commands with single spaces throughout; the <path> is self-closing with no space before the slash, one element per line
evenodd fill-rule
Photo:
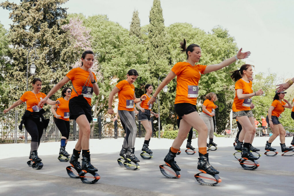
<path fill-rule="evenodd" d="M 220 171 L 222 182 L 217 186 L 199 185 L 194 174 L 198 173 L 198 154 L 187 155 L 186 141 L 176 161 L 181 168 L 181 178 L 165 178 L 159 165 L 173 140 L 151 138 L 151 160 L 141 159 L 144 138 L 136 138 L 135 155 L 140 158 L 140 170 L 130 171 L 117 164 L 122 138 L 91 139 L 91 163 L 98 168 L 101 179 L 95 184 L 83 184 L 66 173 L 69 163 L 59 162 L 59 142 L 41 143 L 39 157 L 44 167 L 33 170 L 29 160 L 30 144 L 0 145 L 0 195 L 294 195 L 294 156 L 281 156 L 279 138 L 272 146 L 279 154 L 275 157 L 263 155 L 265 137 L 255 138 L 253 145 L 260 147 L 260 166 L 253 171 L 244 170 L 233 157 L 234 138 L 215 138 L 218 149 L 209 151 L 210 163 Z M 286 138 L 289 146 L 292 138 Z M 71 154 L 75 141 L 70 141 L 66 150 Z M 192 140 L 197 147 L 197 138 Z M 197 150 L 197 148 L 196 148 Z"/>

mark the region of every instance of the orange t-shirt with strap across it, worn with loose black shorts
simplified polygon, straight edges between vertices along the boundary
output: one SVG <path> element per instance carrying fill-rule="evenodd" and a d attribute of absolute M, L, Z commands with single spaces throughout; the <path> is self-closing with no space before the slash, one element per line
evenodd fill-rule
<path fill-rule="evenodd" d="M 94 79 L 96 79 L 95 73 L 93 73 Z M 71 92 L 71 98 L 77 97 L 83 93 L 84 98 L 87 100 L 89 105 L 91 106 L 91 95 L 93 95 L 93 84 L 91 83 L 91 79 L 89 77 L 89 72 L 83 70 L 82 68 L 74 68 L 66 76 L 71 80 L 71 83 L 76 89 L 76 93 L 73 89 Z M 83 91 L 83 92 L 82 92 Z M 71 99 L 70 98 L 70 99 Z"/>

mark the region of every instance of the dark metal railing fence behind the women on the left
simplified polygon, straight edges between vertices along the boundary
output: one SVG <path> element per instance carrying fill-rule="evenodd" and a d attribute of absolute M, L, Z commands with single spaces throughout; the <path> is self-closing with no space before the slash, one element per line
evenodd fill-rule
<path fill-rule="evenodd" d="M 9 113 L 0 113 L 0 143 L 27 143 L 31 141 L 31 137 L 27 134 L 24 126 L 22 130 L 19 130 L 18 126 L 21 121 L 21 117 L 24 113 L 19 113 L 18 110 Z M 49 118 L 49 125 L 46 131 L 43 132 L 41 142 L 56 142 L 61 140 L 61 133 L 56 127 L 52 113 L 44 113 L 45 118 Z M 78 139 L 78 124 L 75 120 L 70 120 L 70 134 L 69 140 Z M 154 135 L 153 128 L 153 117 L 151 117 L 152 122 L 152 137 Z M 141 123 L 138 122 L 136 116 L 136 124 L 138 127 L 136 137 L 144 137 L 146 130 Z M 113 119 L 98 116 L 97 122 L 91 122 L 91 139 L 102 139 L 102 138 L 120 138 L 124 136 L 124 130 L 121 126 L 120 119 L 113 122 Z"/>

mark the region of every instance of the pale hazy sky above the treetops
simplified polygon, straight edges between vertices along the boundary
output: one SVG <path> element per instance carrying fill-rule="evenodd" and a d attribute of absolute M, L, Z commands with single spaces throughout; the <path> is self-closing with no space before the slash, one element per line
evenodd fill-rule
<path fill-rule="evenodd" d="M 152 4 L 153 0 L 69 0 L 64 7 L 69 8 L 68 13 L 106 14 L 110 21 L 129 29 L 134 9 L 139 12 L 141 26 L 149 23 Z M 293 0 L 161 0 L 161 8 L 165 26 L 187 22 L 210 32 L 221 25 L 235 37 L 238 48 L 251 51 L 246 63 L 253 64 L 256 72 L 294 77 Z M 5 29 L 12 23 L 8 17 L 8 10 L 0 11 L 0 22 Z"/>

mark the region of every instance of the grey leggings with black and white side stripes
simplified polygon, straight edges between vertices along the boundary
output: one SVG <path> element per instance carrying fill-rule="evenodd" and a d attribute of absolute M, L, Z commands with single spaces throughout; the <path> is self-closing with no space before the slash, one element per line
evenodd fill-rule
<path fill-rule="evenodd" d="M 126 125 L 126 137 L 123 140 L 123 148 L 134 148 L 137 125 L 135 123 L 135 112 L 127 110 L 118 110 L 118 115 Z"/>

